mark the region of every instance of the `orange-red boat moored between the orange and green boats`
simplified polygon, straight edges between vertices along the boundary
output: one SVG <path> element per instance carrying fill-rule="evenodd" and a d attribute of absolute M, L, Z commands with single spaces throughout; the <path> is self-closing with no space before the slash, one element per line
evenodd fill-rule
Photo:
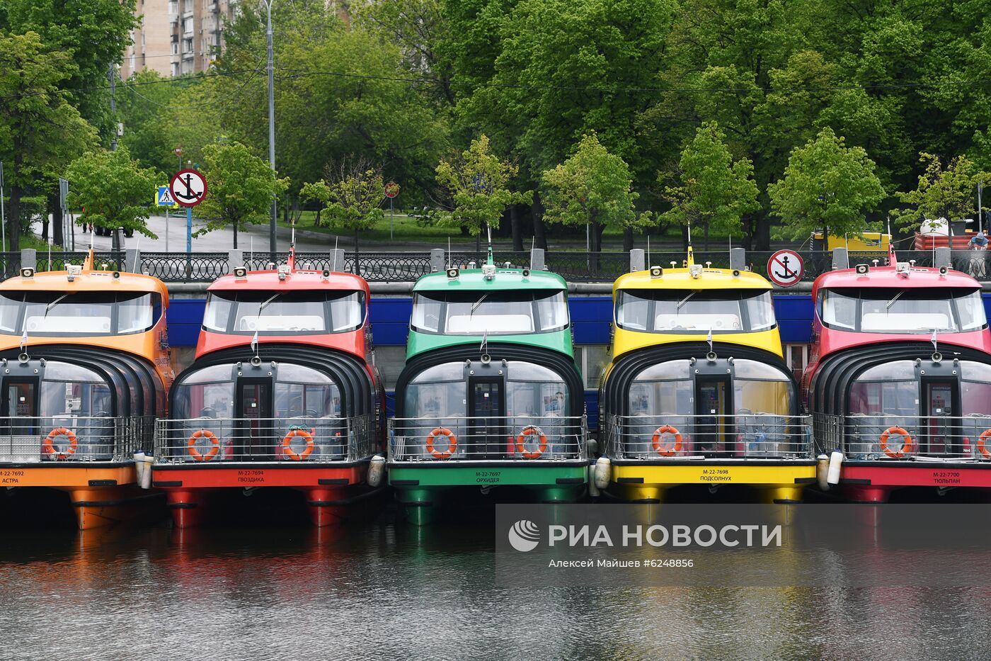
<path fill-rule="evenodd" d="M 237 268 L 208 289 L 196 359 L 156 430 L 154 485 L 177 527 L 218 489 L 304 492 L 313 523 L 369 491 L 385 393 L 373 363 L 369 286 L 349 273 Z"/>

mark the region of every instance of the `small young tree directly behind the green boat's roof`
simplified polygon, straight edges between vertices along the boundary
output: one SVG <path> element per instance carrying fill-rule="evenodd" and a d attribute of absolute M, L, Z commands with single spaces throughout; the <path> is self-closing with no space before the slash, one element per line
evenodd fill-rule
<path fill-rule="evenodd" d="M 472 236 L 478 236 L 484 227 L 498 229 L 509 204 L 528 204 L 533 199 L 532 192 L 509 190 L 509 181 L 516 172 L 515 165 L 492 153 L 485 135 L 473 140 L 456 158 L 441 161 L 437 183 L 447 190 L 454 209 L 440 216 L 438 224 L 467 227 Z"/>

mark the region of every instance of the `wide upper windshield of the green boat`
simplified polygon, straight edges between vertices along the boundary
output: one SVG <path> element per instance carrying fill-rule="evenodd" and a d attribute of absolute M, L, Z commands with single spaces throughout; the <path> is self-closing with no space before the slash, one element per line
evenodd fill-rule
<path fill-rule="evenodd" d="M 413 298 L 414 331 L 453 335 L 521 334 L 568 328 L 564 292 L 426 292 Z"/>

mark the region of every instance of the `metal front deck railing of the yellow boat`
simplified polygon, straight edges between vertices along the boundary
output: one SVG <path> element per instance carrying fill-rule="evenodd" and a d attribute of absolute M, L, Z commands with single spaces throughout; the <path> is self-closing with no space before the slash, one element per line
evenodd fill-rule
<path fill-rule="evenodd" d="M 620 460 L 781 460 L 813 458 L 809 416 L 607 416 L 606 455 Z"/>

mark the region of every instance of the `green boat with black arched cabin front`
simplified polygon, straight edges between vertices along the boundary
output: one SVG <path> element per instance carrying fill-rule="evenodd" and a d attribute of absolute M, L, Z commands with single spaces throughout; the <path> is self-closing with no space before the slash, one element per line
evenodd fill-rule
<path fill-rule="evenodd" d="M 474 265 L 470 265 L 474 266 Z M 587 487 L 582 375 L 558 275 L 450 268 L 413 286 L 388 478 L 408 520 L 444 499 L 569 502 Z"/>

